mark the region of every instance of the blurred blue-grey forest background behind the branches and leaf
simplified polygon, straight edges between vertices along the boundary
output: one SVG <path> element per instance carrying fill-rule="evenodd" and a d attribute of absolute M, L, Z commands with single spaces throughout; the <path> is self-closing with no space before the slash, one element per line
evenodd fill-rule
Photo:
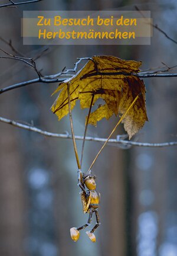
<path fill-rule="evenodd" d="M 4 4 L 6 1 L 0 1 Z M 50 75 L 64 66 L 73 68 L 77 57 L 113 55 L 142 60 L 142 69 L 177 65 L 176 44 L 158 30 L 150 46 L 23 46 L 23 10 L 150 10 L 153 23 L 177 38 L 175 0 L 51 0 L 0 8 L 0 47 L 11 52 L 2 40 L 27 57 L 38 56 L 38 69 Z M 1 55 L 3 55 L 1 53 Z M 0 59 L 1 88 L 36 77 L 15 60 Z M 81 66 L 80 66 L 81 67 Z M 133 139 L 140 142 L 176 140 L 176 79 L 146 78 L 149 122 Z M 70 133 L 68 116 L 58 122 L 50 107 L 55 84 L 32 84 L 0 95 L 2 117 L 33 123 L 51 132 Z M 84 111 L 73 111 L 76 135 L 84 132 Z M 107 137 L 116 118 L 89 126 L 88 135 Z M 117 135 L 123 134 L 123 127 Z M 0 255 L 1 256 L 176 256 L 177 255 L 177 158 L 176 148 L 122 149 L 107 146 L 94 165 L 97 190 L 101 193 L 97 242 L 85 231 L 74 243 L 70 228 L 86 223 L 77 187 L 77 165 L 73 143 L 44 137 L 1 123 L 0 136 Z M 81 142 L 77 142 L 79 149 Z M 87 169 L 101 144 L 86 142 Z M 93 221 L 94 223 L 94 221 Z"/>

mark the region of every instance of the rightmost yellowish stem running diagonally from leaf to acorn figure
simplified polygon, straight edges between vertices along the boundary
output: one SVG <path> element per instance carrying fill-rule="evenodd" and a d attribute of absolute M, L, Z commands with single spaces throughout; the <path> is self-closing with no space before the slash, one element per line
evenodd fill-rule
<path fill-rule="evenodd" d="M 94 163 L 96 162 L 97 158 L 99 157 L 101 151 L 103 151 L 104 147 L 106 146 L 107 142 L 109 142 L 110 137 L 113 135 L 113 133 L 115 132 L 115 130 L 117 129 L 117 126 L 119 126 L 119 124 L 122 122 L 122 120 L 124 119 L 124 117 L 126 117 L 127 113 L 129 112 L 129 110 L 133 107 L 133 105 L 135 104 L 136 100 L 139 98 L 139 95 L 136 96 L 135 100 L 133 100 L 132 104 L 130 104 L 129 108 L 127 108 L 127 110 L 124 112 L 124 114 L 122 115 L 122 117 L 120 118 L 120 120 L 118 121 L 118 123 L 116 124 L 116 126 L 114 127 L 114 129 L 112 130 L 112 132 L 110 133 L 109 137 L 107 138 L 106 142 L 104 142 L 103 146 L 101 147 L 99 153 L 97 153 L 96 157 L 94 158 L 93 162 L 91 163 L 89 170 L 93 167 Z"/>

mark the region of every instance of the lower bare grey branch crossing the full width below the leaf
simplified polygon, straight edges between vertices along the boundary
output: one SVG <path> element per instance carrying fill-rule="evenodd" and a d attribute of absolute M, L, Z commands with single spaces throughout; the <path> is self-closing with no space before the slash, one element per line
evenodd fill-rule
<path fill-rule="evenodd" d="M 22 124 L 17 121 L 11 120 L 11 119 L 5 119 L 4 117 L 0 117 L 0 121 L 2 123 L 6 124 L 11 124 L 12 126 L 24 129 L 24 130 L 29 130 L 31 132 L 37 132 L 40 135 L 44 135 L 46 137 L 56 137 L 58 139 L 72 139 L 72 136 L 68 133 L 51 133 L 47 132 L 44 130 L 41 130 L 37 127 L 34 126 L 29 126 L 27 124 Z M 109 139 L 109 143 L 113 145 L 130 145 L 130 146 L 140 146 L 140 147 L 152 147 L 152 148 L 163 148 L 163 147 L 168 147 L 168 146 L 177 146 L 177 142 L 163 142 L 163 143 L 146 143 L 146 142 L 133 142 L 131 140 L 123 140 L 120 139 L 120 136 L 117 136 L 117 139 Z M 75 136 L 76 140 L 83 140 L 83 136 Z M 85 138 L 87 141 L 93 141 L 93 142 L 101 142 L 104 143 L 106 142 L 107 139 L 105 138 L 99 138 L 99 137 L 91 137 L 91 136 L 86 136 Z"/>

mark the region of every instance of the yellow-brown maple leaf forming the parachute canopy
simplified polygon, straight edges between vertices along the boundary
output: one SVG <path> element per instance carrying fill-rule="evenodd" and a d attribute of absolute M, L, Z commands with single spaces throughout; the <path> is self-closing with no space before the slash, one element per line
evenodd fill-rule
<path fill-rule="evenodd" d="M 97 121 L 107 120 L 120 113 L 123 114 L 139 95 L 133 108 L 123 119 L 124 129 L 129 134 L 129 139 L 148 121 L 145 106 L 145 85 L 143 81 L 132 73 L 139 72 L 142 62 L 122 60 L 114 56 L 94 56 L 72 78 L 62 82 L 55 92 L 61 90 L 51 107 L 58 119 L 68 114 L 68 92 L 70 85 L 71 110 L 80 100 L 81 108 L 89 108 L 91 99 L 93 104 L 99 98 L 105 102 L 90 114 L 89 124 L 96 126 Z M 54 92 L 54 93 L 55 93 Z"/>

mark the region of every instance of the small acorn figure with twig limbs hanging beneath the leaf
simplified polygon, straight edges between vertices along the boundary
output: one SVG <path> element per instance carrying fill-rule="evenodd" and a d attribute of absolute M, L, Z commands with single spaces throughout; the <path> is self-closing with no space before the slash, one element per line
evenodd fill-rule
<path fill-rule="evenodd" d="M 100 218 L 99 218 L 99 203 L 100 203 L 100 193 L 96 191 L 96 176 L 91 174 L 91 170 L 85 173 L 81 173 L 81 170 L 79 169 L 78 172 L 78 186 L 81 188 L 81 202 L 83 204 L 83 212 L 89 213 L 89 219 L 87 220 L 87 223 L 80 228 L 71 228 L 70 234 L 71 239 L 73 239 L 74 242 L 76 242 L 79 239 L 80 236 L 80 230 L 86 228 L 90 225 L 91 217 L 93 213 L 96 214 L 96 225 L 91 229 L 91 231 L 87 231 L 86 234 L 89 236 L 90 240 L 92 242 L 96 242 L 96 236 L 94 235 L 94 231 L 98 228 L 100 225 Z M 85 188 L 85 185 L 88 189 Z"/>

